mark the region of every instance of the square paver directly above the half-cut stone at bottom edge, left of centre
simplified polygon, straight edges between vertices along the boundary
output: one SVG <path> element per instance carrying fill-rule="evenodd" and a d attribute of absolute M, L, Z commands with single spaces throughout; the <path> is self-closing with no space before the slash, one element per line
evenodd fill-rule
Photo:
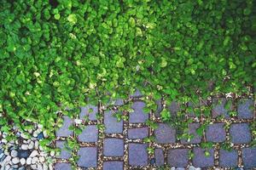
<path fill-rule="evenodd" d="M 104 156 L 124 156 L 124 139 L 104 139 L 103 154 Z"/>

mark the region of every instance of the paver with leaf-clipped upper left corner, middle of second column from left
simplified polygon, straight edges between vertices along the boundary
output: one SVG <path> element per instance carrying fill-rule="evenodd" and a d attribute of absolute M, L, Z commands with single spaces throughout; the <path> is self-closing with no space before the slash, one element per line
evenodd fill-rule
<path fill-rule="evenodd" d="M 96 142 L 98 140 L 98 128 L 96 125 L 87 125 L 79 134 L 80 142 Z"/>

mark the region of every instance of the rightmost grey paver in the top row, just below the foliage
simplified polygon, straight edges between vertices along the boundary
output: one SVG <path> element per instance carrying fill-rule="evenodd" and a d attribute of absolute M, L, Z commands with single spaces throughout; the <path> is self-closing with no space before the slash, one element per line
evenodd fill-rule
<path fill-rule="evenodd" d="M 253 99 L 246 99 L 240 101 L 237 106 L 237 117 L 243 119 L 252 119 L 253 118 Z"/>

